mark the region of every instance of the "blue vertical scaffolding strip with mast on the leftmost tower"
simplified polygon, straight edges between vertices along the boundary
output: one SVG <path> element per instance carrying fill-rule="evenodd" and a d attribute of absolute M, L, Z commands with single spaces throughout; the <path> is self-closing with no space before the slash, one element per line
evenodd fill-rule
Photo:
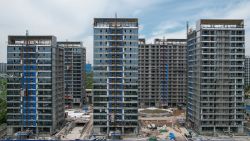
<path fill-rule="evenodd" d="M 36 116 L 33 117 L 33 114 L 36 115 L 36 110 L 32 110 L 33 101 L 35 102 L 34 105 L 36 106 L 36 65 L 32 61 L 33 56 L 31 57 L 31 53 L 34 52 L 32 47 L 29 47 L 29 36 L 28 31 L 26 31 L 25 36 L 25 45 L 21 47 L 21 54 L 20 54 L 20 61 L 22 65 L 22 73 L 21 73 L 21 113 L 22 113 L 22 132 L 32 131 L 32 133 L 37 132 L 37 122 Z M 37 56 L 37 54 L 35 54 Z M 37 61 L 37 58 L 36 58 Z M 35 71 L 35 72 L 33 72 Z M 31 84 L 33 83 L 33 84 Z M 31 114 L 32 117 L 31 118 Z M 32 122 L 33 121 L 33 122 Z M 31 129 L 31 130 L 30 130 Z M 22 135 L 22 134 L 20 134 Z"/>

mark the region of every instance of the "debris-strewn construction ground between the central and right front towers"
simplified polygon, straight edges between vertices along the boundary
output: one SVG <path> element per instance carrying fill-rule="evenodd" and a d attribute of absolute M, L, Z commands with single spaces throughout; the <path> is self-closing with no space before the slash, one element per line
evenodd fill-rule
<path fill-rule="evenodd" d="M 145 110 L 144 110 L 145 111 Z M 148 113 L 160 114 L 160 109 L 148 110 Z M 174 134 L 177 141 L 186 141 L 185 134 L 188 133 L 185 127 L 181 126 L 179 120 L 185 119 L 185 110 L 167 109 L 171 114 L 169 116 L 139 117 L 141 139 L 155 137 L 158 140 L 170 140 L 169 134 Z M 145 112 L 144 112 L 145 113 Z M 144 114 L 145 115 L 145 114 Z M 137 140 L 141 140 L 137 139 Z"/>

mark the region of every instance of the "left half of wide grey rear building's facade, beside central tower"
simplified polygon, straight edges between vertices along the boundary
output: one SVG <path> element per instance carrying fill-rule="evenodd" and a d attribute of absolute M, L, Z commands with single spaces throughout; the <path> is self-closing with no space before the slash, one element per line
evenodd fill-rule
<path fill-rule="evenodd" d="M 160 107 L 161 101 L 161 78 L 164 71 L 161 69 L 159 45 L 139 45 L 139 69 L 138 69 L 138 97 L 140 107 Z"/>

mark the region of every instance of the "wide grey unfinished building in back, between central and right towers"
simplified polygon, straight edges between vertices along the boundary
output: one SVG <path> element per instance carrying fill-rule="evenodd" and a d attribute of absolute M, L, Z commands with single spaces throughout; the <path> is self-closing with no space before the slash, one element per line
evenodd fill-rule
<path fill-rule="evenodd" d="M 139 41 L 140 107 L 185 105 L 187 92 L 185 39 Z"/>

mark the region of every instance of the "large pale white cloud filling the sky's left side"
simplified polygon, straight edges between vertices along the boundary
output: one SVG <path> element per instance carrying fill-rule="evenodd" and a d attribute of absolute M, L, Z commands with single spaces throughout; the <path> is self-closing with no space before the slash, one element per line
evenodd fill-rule
<path fill-rule="evenodd" d="M 8 35 L 55 35 L 58 40 L 80 40 L 93 60 L 93 18 L 133 17 L 160 1 L 152 0 L 1 0 L 0 62 L 6 62 Z M 138 4 L 140 3 L 140 4 Z"/>

